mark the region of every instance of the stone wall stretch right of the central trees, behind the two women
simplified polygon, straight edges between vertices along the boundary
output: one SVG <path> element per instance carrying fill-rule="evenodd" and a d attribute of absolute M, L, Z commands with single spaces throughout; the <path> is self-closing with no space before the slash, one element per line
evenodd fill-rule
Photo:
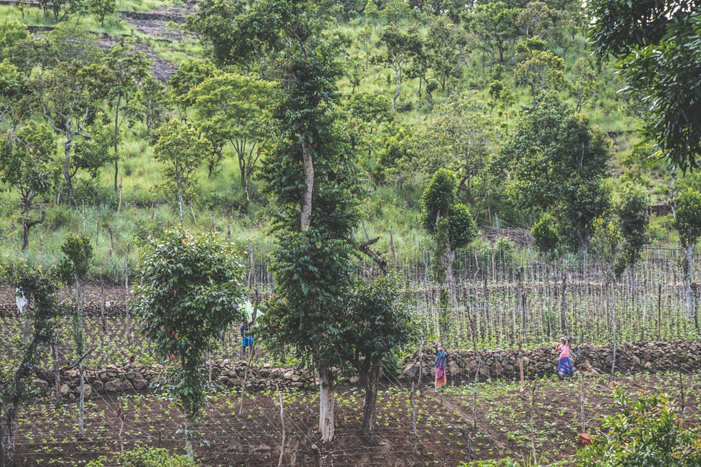
<path fill-rule="evenodd" d="M 613 346 L 594 346 L 582 344 L 573 347 L 571 360 L 576 372 L 584 375 L 599 375 L 611 372 L 613 364 Z M 496 349 L 496 350 L 454 350 L 449 352 L 446 363 L 448 375 L 456 379 L 474 379 L 479 371 L 479 378 L 519 377 L 519 361 L 523 358 L 524 377 L 552 375 L 557 372 L 559 354 L 553 347 L 537 349 Z M 415 379 L 419 367 L 423 377 L 433 377 L 433 358 L 430 352 L 423 354 L 423 363 L 419 365 L 418 355 L 404 360 L 401 377 Z M 665 371 L 677 368 L 685 370 L 701 369 L 701 342 L 640 342 L 638 344 L 621 344 L 616 349 L 615 371 Z"/>

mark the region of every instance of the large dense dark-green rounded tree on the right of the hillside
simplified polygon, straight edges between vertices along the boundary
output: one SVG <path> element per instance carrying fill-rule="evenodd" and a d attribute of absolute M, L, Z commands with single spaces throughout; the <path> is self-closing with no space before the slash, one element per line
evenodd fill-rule
<path fill-rule="evenodd" d="M 592 222 L 609 203 L 611 143 L 573 113 L 556 94 L 536 97 L 501 151 L 507 191 L 522 207 L 552 210 L 561 232 L 572 232 L 587 250 Z"/>

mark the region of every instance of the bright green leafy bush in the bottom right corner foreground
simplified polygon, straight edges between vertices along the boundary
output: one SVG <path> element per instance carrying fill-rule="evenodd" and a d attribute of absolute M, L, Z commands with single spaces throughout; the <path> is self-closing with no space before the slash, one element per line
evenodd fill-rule
<path fill-rule="evenodd" d="M 701 465 L 701 440 L 684 428 L 666 393 L 639 393 L 631 400 L 613 390 L 620 412 L 603 418 L 606 435 L 579 452 L 580 467 L 695 467 Z"/>

